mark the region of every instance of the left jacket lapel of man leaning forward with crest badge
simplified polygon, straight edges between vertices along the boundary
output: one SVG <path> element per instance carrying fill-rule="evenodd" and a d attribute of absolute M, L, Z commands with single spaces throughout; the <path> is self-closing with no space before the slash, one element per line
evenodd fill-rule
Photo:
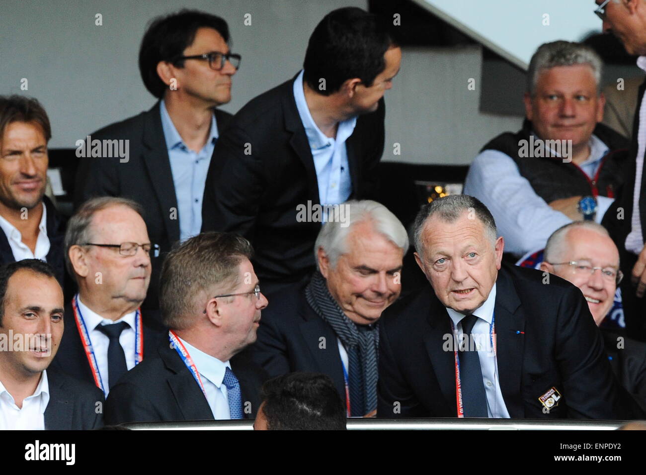
<path fill-rule="evenodd" d="M 446 308 L 437 300 L 432 289 L 429 289 L 432 302 L 428 308 L 428 326 L 424 328 L 424 346 L 433 364 L 433 371 L 437 382 L 440 385 L 444 399 L 448 407 L 457 414 L 457 403 L 455 399 L 455 353 L 444 351 L 444 344 L 447 341 L 446 335 L 451 335 L 451 319 Z M 450 347 L 452 348 L 452 346 Z"/>

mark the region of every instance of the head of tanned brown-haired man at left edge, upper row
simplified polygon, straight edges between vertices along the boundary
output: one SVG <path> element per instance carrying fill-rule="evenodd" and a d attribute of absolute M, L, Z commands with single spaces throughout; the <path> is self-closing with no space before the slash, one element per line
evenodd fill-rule
<path fill-rule="evenodd" d="M 52 130 L 32 98 L 0 96 L 0 204 L 14 210 L 41 203 L 47 185 Z"/>

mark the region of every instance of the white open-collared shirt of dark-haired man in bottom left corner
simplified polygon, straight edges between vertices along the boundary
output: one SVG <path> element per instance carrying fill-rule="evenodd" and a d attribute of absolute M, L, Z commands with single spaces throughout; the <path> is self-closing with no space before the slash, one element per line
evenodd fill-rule
<path fill-rule="evenodd" d="M 36 391 L 16 406 L 14 397 L 0 381 L 0 430 L 45 430 L 45 409 L 49 403 L 47 371 L 43 371 Z"/>

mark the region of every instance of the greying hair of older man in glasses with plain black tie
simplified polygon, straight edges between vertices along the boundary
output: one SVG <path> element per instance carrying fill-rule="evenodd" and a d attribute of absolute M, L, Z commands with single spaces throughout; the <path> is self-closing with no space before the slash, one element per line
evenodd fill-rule
<path fill-rule="evenodd" d="M 92 240 L 92 218 L 94 215 L 112 206 L 127 206 L 143 219 L 143 207 L 137 202 L 129 200 L 128 198 L 120 198 L 118 196 L 99 196 L 87 200 L 79 207 L 74 216 L 72 216 L 67 223 L 67 231 L 65 231 L 65 267 L 72 277 L 76 275 L 74 266 L 70 261 L 70 248 L 72 246 L 82 246 L 85 242 Z"/>

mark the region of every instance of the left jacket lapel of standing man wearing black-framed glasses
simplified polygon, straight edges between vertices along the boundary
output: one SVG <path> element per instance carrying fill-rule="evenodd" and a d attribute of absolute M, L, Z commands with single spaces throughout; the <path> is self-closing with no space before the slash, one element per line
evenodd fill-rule
<path fill-rule="evenodd" d="M 175 185 L 172 181 L 171 160 L 161 127 L 160 103 L 148 111 L 143 128 L 143 162 L 148 169 L 152 187 L 161 206 L 161 215 L 169 240 L 180 240 L 180 220 L 171 219 L 171 208 L 177 209 Z"/>

